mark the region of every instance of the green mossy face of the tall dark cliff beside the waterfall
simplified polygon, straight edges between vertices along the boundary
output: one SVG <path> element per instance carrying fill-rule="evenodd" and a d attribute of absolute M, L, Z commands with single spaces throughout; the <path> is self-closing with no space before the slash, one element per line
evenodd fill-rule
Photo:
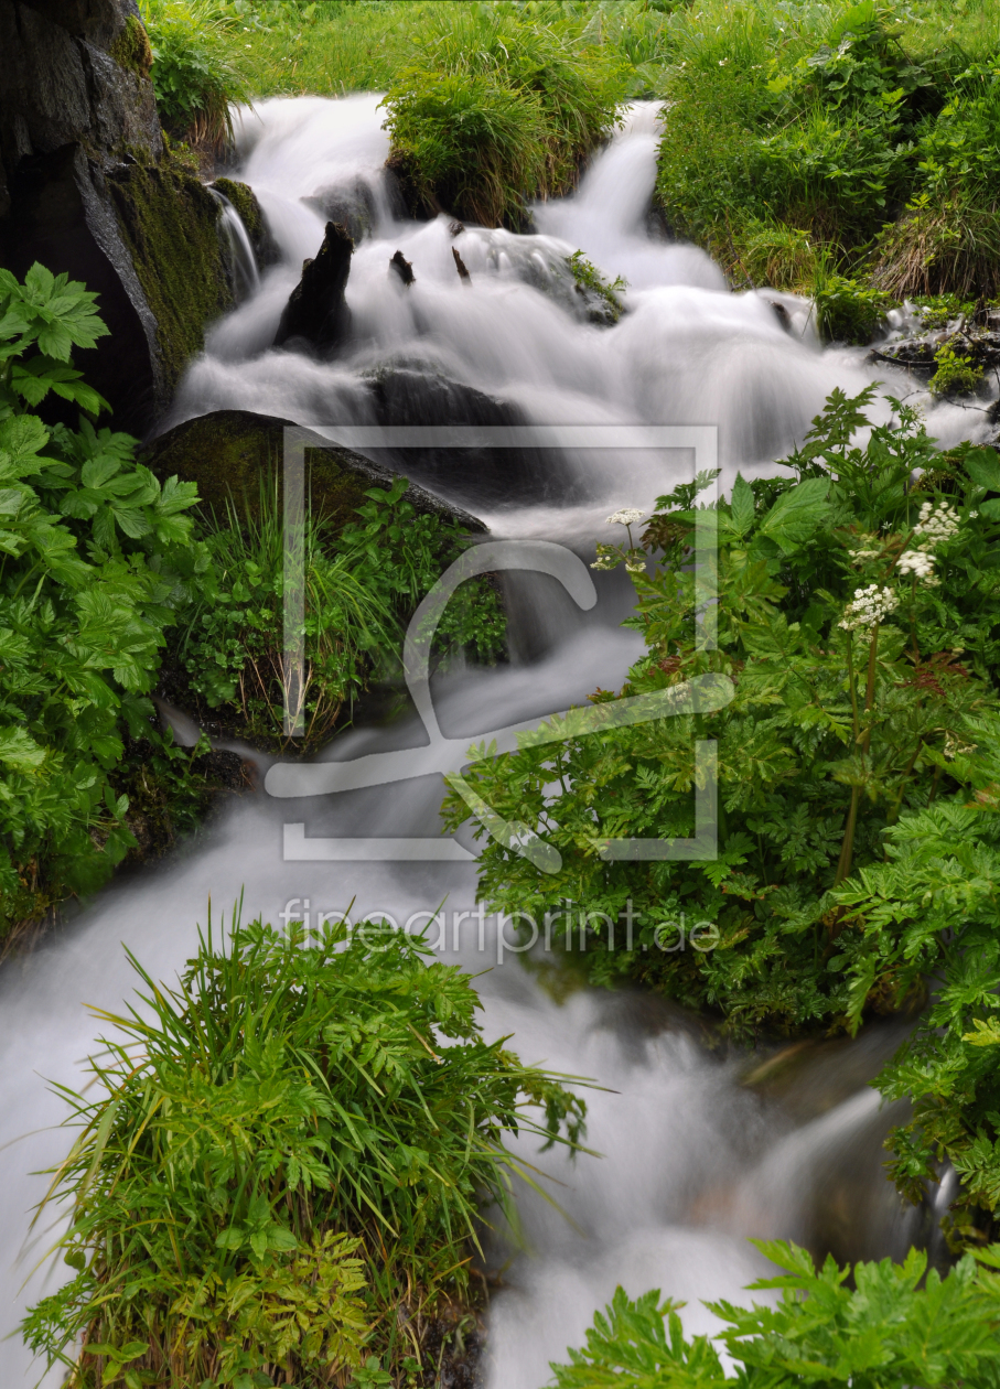
<path fill-rule="evenodd" d="M 157 321 L 164 379 L 174 389 L 204 346 L 204 328 L 233 304 L 219 247 L 219 204 L 174 161 L 132 164 L 108 179 L 122 236 Z"/>

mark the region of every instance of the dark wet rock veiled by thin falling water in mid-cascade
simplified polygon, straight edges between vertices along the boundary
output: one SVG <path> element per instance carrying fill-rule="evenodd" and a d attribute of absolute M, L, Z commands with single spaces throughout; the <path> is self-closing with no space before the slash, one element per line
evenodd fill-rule
<path fill-rule="evenodd" d="M 388 363 L 368 378 L 375 415 L 382 425 L 524 425 L 521 410 L 474 386 L 442 375 L 425 363 Z M 372 450 L 385 467 L 479 507 L 518 497 L 564 503 L 582 497 L 565 454 L 558 449 Z"/>

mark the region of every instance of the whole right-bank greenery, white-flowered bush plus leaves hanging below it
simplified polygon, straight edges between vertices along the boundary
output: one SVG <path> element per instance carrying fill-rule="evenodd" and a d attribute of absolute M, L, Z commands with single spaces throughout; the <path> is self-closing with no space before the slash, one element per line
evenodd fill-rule
<path fill-rule="evenodd" d="M 989 1228 L 1000 1093 L 992 1053 L 962 1036 L 976 1020 L 993 1026 L 1000 979 L 1000 465 L 992 449 L 936 451 L 897 401 L 892 425 L 853 444 L 872 393 L 831 396 L 785 463 L 792 479 L 738 479 L 715 508 L 717 564 L 690 567 L 707 475 L 660 499 L 642 549 L 599 547 L 597 567 L 628 564 L 626 625 L 647 653 L 621 696 L 592 696 L 607 729 L 581 735 L 568 715 L 515 753 L 479 749 L 474 790 L 560 856 L 542 871 L 490 839 L 481 893 L 490 910 L 550 922 L 592 981 L 640 979 L 736 1035 L 856 1031 L 944 976 L 883 1076 L 888 1093 L 924 1096 L 921 1136 L 897 1135 L 896 1175 L 914 1195 L 950 1156 L 961 1220 Z M 708 599 L 717 646 L 696 621 Z M 615 726 L 619 697 L 696 678 L 722 679 L 731 701 Z M 607 858 L 608 839 L 692 833 L 699 739 L 718 746 L 717 856 Z M 468 807 L 451 795 L 446 814 L 457 825 Z"/>

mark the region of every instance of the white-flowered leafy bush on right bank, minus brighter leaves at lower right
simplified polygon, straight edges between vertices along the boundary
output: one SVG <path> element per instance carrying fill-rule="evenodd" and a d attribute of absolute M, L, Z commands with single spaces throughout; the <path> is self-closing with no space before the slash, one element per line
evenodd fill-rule
<path fill-rule="evenodd" d="M 539 925 L 549 914 L 556 945 L 596 982 L 639 978 L 738 1032 L 843 1026 L 921 989 L 919 972 L 900 990 L 889 964 L 868 976 L 846 968 L 835 888 L 883 857 L 904 811 L 967 785 L 954 749 L 976 740 L 967 731 L 996 699 L 999 532 L 994 501 L 982 500 L 1000 490 L 996 456 L 936 453 L 899 406 L 892 426 L 853 444 L 871 397 L 831 396 L 786 463 L 796 481 L 738 479 L 715 511 L 715 564 L 690 565 L 707 515 L 692 485 L 660 500 L 643 536 L 656 569 L 629 564 L 638 607 L 626 625 L 647 653 L 621 697 L 703 676 L 722 679 L 731 703 L 615 726 L 617 697 L 597 692 L 606 729 L 553 720 L 547 740 L 524 735 L 494 758 L 479 749 L 468 776 L 561 857 L 543 872 L 490 840 L 479 860 L 490 910 Z M 925 472 L 917 490 L 914 469 Z M 717 649 L 696 622 L 710 597 Z M 718 746 L 717 857 L 604 857 L 610 838 L 692 833 L 697 739 Z M 454 825 L 468 807 L 456 795 L 446 813 Z M 633 928 L 622 924 L 629 903 Z"/>

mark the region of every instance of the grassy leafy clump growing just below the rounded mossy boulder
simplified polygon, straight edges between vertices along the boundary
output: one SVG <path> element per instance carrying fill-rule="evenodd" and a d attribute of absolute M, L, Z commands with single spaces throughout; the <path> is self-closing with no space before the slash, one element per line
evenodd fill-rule
<path fill-rule="evenodd" d="M 335 533 L 307 515 L 303 746 L 325 742 L 368 679 L 399 675 L 403 622 L 465 543 L 461 526 L 419 513 L 406 478 L 372 488 L 357 521 Z M 285 718 L 285 535 L 276 482 L 262 485 L 256 517 L 229 508 L 207 536 L 212 564 L 183 614 L 176 656 L 210 707 L 239 711 L 256 738 L 282 736 Z M 458 592 L 440 628 L 443 654 L 482 661 L 503 650 L 504 619 L 485 579 Z"/>

